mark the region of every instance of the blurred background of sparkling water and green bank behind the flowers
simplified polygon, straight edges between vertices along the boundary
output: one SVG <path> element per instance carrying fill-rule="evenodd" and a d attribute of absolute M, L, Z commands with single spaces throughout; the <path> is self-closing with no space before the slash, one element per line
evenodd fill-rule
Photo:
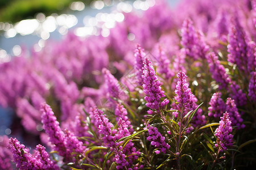
<path fill-rule="evenodd" d="M 125 13 L 146 11 L 156 0 L 0 0 L 0 63 L 22 50 L 39 52 L 46 40 L 61 41 L 68 32 L 76 36 L 109 36 Z M 179 0 L 169 0 L 175 7 Z M 0 107 L 0 135 L 10 135 L 13 109 Z"/>

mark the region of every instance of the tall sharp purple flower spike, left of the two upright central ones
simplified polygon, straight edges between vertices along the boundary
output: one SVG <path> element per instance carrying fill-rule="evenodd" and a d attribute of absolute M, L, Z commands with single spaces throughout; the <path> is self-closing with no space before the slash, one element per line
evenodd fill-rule
<path fill-rule="evenodd" d="M 143 61 L 143 92 L 146 94 L 144 99 L 147 101 L 146 106 L 150 109 L 156 109 L 159 111 L 164 105 L 169 103 L 169 100 L 164 99 L 160 101 L 161 97 L 165 97 L 164 91 L 161 89 L 161 83 L 158 80 L 158 76 L 155 74 L 154 67 L 151 61 L 147 58 Z M 149 111 L 148 113 L 152 113 Z"/>

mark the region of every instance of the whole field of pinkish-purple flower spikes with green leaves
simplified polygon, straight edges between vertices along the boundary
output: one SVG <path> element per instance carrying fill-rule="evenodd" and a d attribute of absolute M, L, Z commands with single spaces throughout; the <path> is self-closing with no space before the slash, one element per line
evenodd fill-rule
<path fill-rule="evenodd" d="M 0 169 L 255 168 L 256 1 L 154 2 L 0 59 Z"/>

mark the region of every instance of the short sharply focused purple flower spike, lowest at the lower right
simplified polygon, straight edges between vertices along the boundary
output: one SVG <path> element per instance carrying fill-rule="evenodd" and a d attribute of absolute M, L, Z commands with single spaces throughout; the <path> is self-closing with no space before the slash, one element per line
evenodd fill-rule
<path fill-rule="evenodd" d="M 217 143 L 220 152 L 227 150 L 227 147 L 233 146 L 233 135 L 232 133 L 232 122 L 229 120 L 229 113 L 225 112 L 223 117 L 221 117 L 220 126 L 215 130 L 215 135 L 217 137 Z"/>

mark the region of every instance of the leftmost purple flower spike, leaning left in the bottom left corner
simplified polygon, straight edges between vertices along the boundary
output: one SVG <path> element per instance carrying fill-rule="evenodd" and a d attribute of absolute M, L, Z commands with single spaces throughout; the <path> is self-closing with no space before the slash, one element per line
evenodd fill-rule
<path fill-rule="evenodd" d="M 40 169 L 42 163 L 36 158 L 33 158 L 29 150 L 24 145 L 20 145 L 16 138 L 10 138 L 9 143 L 9 148 L 13 152 L 13 158 L 17 168 L 20 170 Z"/>

